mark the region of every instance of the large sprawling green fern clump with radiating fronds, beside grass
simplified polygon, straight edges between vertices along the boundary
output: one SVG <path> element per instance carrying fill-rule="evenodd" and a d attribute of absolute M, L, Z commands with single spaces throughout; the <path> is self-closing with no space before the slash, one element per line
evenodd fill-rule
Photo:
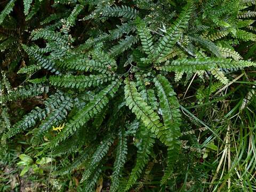
<path fill-rule="evenodd" d="M 95 191 L 106 167 L 110 191 L 129 191 L 153 159 L 164 168 L 155 183 L 171 185 L 187 169 L 181 132 L 194 123 L 183 106 L 256 65 L 236 46 L 256 41 L 249 1 L 23 0 L 21 13 L 17 2 L 0 13 L 0 135 L 32 135 L 36 156 L 72 154 L 54 174 L 83 171 L 84 191 Z M 196 97 L 185 103 L 191 86 Z M 39 101 L 10 120 L 12 103 L 29 99 Z"/>

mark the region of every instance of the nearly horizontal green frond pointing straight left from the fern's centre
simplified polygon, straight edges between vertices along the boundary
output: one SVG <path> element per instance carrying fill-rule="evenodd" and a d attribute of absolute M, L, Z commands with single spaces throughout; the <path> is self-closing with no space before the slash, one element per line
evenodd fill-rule
<path fill-rule="evenodd" d="M 65 88 L 83 89 L 86 87 L 97 86 L 103 83 L 113 81 L 115 76 L 108 75 L 65 75 L 65 76 L 50 76 L 50 83 L 54 86 Z"/>

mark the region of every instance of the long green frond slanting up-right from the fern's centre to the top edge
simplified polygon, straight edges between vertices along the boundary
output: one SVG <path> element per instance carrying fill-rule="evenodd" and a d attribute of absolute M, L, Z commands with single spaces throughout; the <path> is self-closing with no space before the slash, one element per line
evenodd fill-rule
<path fill-rule="evenodd" d="M 156 53 L 157 62 L 166 61 L 166 56 L 172 52 L 174 44 L 178 41 L 183 30 L 186 29 L 193 10 L 193 1 L 188 1 L 178 19 L 174 21 L 173 25 L 166 31 L 166 35 L 159 42 Z"/>

